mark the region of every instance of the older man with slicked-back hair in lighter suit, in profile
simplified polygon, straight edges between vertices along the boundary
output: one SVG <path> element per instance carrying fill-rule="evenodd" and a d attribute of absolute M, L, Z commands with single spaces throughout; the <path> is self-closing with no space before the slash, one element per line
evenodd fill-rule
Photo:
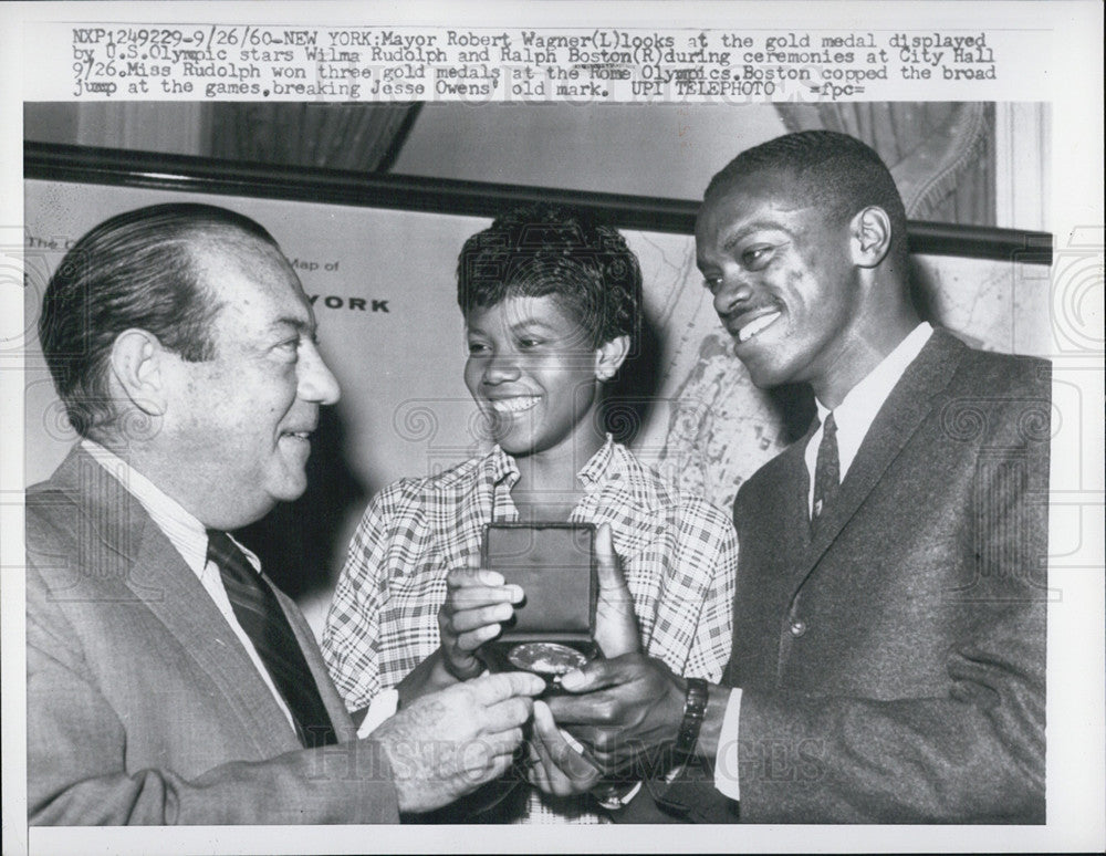
<path fill-rule="evenodd" d="M 113 218 L 62 261 L 40 336 L 83 439 L 27 495 L 32 823 L 397 822 L 507 769 L 540 680 L 457 685 L 358 733 L 227 534 L 303 492 L 338 397 L 268 232 L 200 205 Z"/>

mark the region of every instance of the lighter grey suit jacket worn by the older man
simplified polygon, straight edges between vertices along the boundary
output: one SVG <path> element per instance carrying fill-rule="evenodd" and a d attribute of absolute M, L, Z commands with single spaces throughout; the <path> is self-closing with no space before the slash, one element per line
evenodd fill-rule
<path fill-rule="evenodd" d="M 142 505 L 74 449 L 27 494 L 33 824 L 395 823 L 295 605 L 338 745 L 302 749 L 226 618 Z"/>

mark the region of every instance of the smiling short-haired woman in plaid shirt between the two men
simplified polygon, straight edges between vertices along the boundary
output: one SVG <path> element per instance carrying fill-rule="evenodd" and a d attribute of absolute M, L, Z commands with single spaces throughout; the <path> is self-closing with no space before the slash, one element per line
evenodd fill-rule
<path fill-rule="evenodd" d="M 465 382 L 494 446 L 440 474 L 400 480 L 365 512 L 323 639 L 347 707 L 372 704 L 392 688 L 408 698 L 456 680 L 474 665 L 472 649 L 510 619 L 511 605 L 501 602 L 477 626 L 455 626 L 457 608 L 447 602 L 447 588 L 449 597 L 458 591 L 447 575 L 476 563 L 491 522 L 607 524 L 643 645 L 680 674 L 721 675 L 737 565 L 732 525 L 602 428 L 605 385 L 641 330 L 637 258 L 615 229 L 544 205 L 503 215 L 469 238 L 457 280 Z M 448 820 L 595 823 L 599 812 L 586 794 L 518 787 L 494 811 Z"/>

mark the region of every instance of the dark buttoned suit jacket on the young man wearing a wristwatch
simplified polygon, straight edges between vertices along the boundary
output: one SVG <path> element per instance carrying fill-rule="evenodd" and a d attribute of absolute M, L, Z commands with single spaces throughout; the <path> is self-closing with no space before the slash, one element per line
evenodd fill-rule
<path fill-rule="evenodd" d="M 741 821 L 1044 822 L 1050 396 L 936 331 L 813 543 L 805 440 L 742 486 Z M 703 779 L 672 805 L 732 821 Z"/>

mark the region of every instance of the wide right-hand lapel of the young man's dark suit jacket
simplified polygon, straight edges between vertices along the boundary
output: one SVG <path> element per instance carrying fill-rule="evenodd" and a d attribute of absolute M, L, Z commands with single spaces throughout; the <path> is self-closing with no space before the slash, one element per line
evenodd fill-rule
<path fill-rule="evenodd" d="M 810 544 L 796 591 L 932 410 L 936 397 L 948 386 L 967 351 L 959 340 L 935 330 L 921 353 L 907 367 L 868 428 L 842 482 L 835 508 L 831 509 Z M 802 446 L 805 448 L 805 443 Z M 808 531 L 806 536 L 810 536 Z"/>

